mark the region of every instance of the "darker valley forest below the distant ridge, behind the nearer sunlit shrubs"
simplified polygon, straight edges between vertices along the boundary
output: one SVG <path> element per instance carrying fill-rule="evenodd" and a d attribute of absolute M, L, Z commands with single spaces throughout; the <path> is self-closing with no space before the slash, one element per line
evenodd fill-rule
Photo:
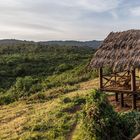
<path fill-rule="evenodd" d="M 86 64 L 93 54 L 89 47 L 47 46 L 23 42 L 0 46 L 0 88 L 9 89 L 17 77 L 61 74 Z"/>

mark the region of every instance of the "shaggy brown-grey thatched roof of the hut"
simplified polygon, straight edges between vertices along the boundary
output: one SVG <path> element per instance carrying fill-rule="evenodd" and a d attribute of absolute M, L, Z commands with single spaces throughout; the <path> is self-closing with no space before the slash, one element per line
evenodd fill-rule
<path fill-rule="evenodd" d="M 115 71 L 139 68 L 140 30 L 111 32 L 95 53 L 90 66 L 109 66 Z"/>

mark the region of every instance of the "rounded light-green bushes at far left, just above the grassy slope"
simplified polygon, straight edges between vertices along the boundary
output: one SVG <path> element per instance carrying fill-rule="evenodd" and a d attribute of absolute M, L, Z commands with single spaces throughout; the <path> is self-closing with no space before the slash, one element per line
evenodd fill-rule
<path fill-rule="evenodd" d="M 42 85 L 37 78 L 32 78 L 31 76 L 17 78 L 15 85 L 0 96 L 0 104 L 8 104 L 20 98 L 26 98 L 41 90 Z M 41 97 L 41 95 L 39 97 Z"/>

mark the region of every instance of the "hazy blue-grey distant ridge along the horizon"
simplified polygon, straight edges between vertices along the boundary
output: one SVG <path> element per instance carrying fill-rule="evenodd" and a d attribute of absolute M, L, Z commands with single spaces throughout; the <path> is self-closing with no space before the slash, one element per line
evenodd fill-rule
<path fill-rule="evenodd" d="M 17 39 L 3 39 L 0 40 L 0 45 L 15 45 L 20 43 L 32 43 L 32 44 L 41 44 L 41 45 L 56 45 L 56 46 L 79 46 L 79 47 L 92 47 L 98 48 L 102 41 L 92 40 L 92 41 L 26 41 L 26 40 L 17 40 Z"/>

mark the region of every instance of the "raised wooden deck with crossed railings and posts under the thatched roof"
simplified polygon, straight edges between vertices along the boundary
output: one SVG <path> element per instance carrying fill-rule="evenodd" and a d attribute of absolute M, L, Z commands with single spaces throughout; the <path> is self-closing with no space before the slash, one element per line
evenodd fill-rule
<path fill-rule="evenodd" d="M 137 94 L 140 93 L 140 85 L 137 85 L 136 80 L 136 70 L 132 69 L 130 71 L 124 72 L 114 72 L 109 75 L 104 75 L 103 69 L 99 69 L 99 89 L 105 92 L 114 92 L 116 102 L 119 101 L 120 105 L 124 107 L 125 105 L 125 94 L 131 95 L 131 106 L 132 109 L 137 108 Z"/>

